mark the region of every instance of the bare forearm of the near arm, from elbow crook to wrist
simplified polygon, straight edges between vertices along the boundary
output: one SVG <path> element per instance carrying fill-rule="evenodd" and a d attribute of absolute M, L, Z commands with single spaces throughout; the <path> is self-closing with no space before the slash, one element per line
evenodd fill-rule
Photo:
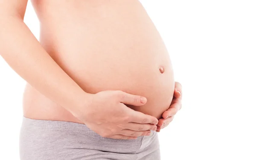
<path fill-rule="evenodd" d="M 32 87 L 71 113 L 89 95 L 56 64 L 19 17 L 0 18 L 0 55 Z"/>

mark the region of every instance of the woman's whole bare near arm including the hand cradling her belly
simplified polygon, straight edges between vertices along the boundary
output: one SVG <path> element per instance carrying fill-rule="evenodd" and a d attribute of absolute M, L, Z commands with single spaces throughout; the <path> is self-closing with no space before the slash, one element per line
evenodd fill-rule
<path fill-rule="evenodd" d="M 155 117 L 124 105 L 144 105 L 145 97 L 122 91 L 84 92 L 23 23 L 26 3 L 0 1 L 0 55 L 18 75 L 103 137 L 135 139 L 157 129 Z"/>

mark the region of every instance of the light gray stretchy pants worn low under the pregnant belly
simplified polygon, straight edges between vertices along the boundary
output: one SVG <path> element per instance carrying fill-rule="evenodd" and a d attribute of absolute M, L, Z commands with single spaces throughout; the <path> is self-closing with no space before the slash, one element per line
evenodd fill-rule
<path fill-rule="evenodd" d="M 20 160 L 160 160 L 160 150 L 155 131 L 137 140 L 114 140 L 80 123 L 23 117 Z"/>

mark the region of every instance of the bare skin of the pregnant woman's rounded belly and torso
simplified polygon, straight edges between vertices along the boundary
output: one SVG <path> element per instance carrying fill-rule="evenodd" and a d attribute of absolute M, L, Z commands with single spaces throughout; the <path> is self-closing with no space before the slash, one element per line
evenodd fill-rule
<path fill-rule="evenodd" d="M 138 0 L 32 0 L 32 4 L 41 22 L 41 45 L 85 92 L 122 90 L 145 96 L 145 105 L 128 107 L 161 118 L 174 93 L 172 63 Z M 29 84 L 23 111 L 32 119 L 82 123 Z"/>

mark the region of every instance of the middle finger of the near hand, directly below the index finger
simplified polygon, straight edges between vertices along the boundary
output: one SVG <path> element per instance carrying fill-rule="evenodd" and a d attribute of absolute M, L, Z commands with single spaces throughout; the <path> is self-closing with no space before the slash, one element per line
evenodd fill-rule
<path fill-rule="evenodd" d="M 129 122 L 126 125 L 125 129 L 129 129 L 129 130 L 132 130 L 132 131 L 148 131 L 148 130 L 156 131 L 157 130 L 157 125 L 140 124 L 140 123 Z"/>

